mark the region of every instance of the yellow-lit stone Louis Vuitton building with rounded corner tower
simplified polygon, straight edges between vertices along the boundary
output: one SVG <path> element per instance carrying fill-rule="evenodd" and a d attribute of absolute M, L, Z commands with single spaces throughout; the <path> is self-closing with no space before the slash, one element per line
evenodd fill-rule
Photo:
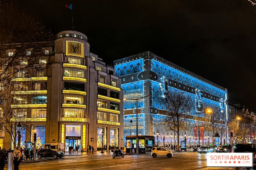
<path fill-rule="evenodd" d="M 123 96 L 114 69 L 90 53 L 87 37 L 80 32 L 62 31 L 53 45 L 45 51 L 47 55 L 38 54 L 38 64 L 43 65 L 38 74 L 17 73 L 12 79 L 26 86 L 12 92 L 17 102 L 11 108 L 24 113 L 12 119 L 23 126 L 21 145 L 25 140 L 33 142 L 33 133 L 37 133 L 37 147 L 62 142 L 66 151 L 89 144 L 101 150 L 103 132 L 104 145 L 122 147 Z M 13 54 L 15 49 L 7 52 Z M 27 61 L 22 64 L 29 65 Z M 10 136 L 6 133 L 2 139 L 3 147 L 9 148 Z"/>

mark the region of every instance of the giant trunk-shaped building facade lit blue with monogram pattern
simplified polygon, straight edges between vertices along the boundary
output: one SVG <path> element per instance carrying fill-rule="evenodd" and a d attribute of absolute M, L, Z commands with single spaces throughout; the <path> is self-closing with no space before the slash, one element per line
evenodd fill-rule
<path fill-rule="evenodd" d="M 227 120 L 227 89 L 207 79 L 150 51 L 115 60 L 114 64 L 116 76 L 122 80 L 124 98 L 135 99 L 151 94 L 138 102 L 138 131 L 142 135 L 156 135 L 155 122 L 163 116 L 161 113 L 165 110 L 159 99 L 167 89 L 175 93 L 184 91 L 195 101 L 195 107 L 191 110 L 192 115 L 205 108 L 213 108 L 215 112 L 221 114 L 222 122 Z M 200 116 L 205 117 L 204 113 Z M 130 123 L 131 119 L 132 123 Z M 187 122 L 193 124 L 195 120 L 187 119 Z M 130 134 L 130 126 L 131 135 L 136 135 L 136 102 L 126 100 L 124 102 L 124 138 Z M 163 133 L 168 135 L 168 132 Z M 192 133 L 193 128 L 190 134 Z M 160 142 L 161 140 L 160 138 Z M 165 142 L 170 142 L 169 137 L 166 137 Z"/>

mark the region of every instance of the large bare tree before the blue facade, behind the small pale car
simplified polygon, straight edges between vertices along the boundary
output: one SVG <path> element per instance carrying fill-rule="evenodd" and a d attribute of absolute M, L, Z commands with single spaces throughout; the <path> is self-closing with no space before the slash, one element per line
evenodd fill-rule
<path fill-rule="evenodd" d="M 191 111 L 192 99 L 189 94 L 180 91 L 166 91 L 161 103 L 165 108 L 163 124 L 166 125 L 169 130 L 177 133 L 177 150 L 179 150 L 180 143 L 180 130 L 186 127 L 185 118 L 186 113 Z"/>

